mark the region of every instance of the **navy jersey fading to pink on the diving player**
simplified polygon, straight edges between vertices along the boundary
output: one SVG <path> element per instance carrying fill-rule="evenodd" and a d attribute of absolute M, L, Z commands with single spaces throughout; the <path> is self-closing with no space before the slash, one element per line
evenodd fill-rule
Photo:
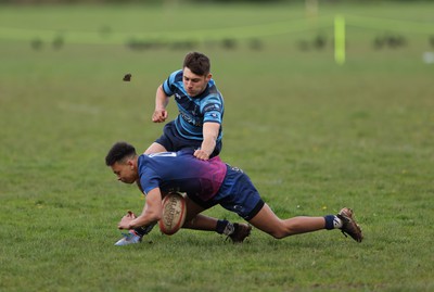
<path fill-rule="evenodd" d="M 201 161 L 194 150 L 162 152 L 139 156 L 140 186 L 144 193 L 155 188 L 162 192 L 187 192 L 207 201 L 215 196 L 225 180 L 227 165 L 215 156 Z"/>

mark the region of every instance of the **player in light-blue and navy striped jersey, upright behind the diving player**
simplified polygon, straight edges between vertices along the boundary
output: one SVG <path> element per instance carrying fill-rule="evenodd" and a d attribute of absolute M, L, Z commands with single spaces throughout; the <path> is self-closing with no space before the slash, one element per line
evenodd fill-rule
<path fill-rule="evenodd" d="M 152 122 L 167 119 L 170 97 L 178 105 L 178 116 L 167 123 L 163 135 L 145 154 L 195 149 L 194 156 L 208 160 L 221 151 L 224 98 L 210 74 L 209 59 L 199 52 L 186 55 L 182 69 L 176 71 L 157 88 Z"/>

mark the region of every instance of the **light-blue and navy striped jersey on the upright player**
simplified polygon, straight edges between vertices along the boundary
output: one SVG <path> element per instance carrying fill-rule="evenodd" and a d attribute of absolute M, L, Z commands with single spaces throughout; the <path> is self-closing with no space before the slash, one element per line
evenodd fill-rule
<path fill-rule="evenodd" d="M 179 115 L 175 119 L 178 132 L 193 140 L 203 140 L 203 124 L 206 122 L 219 123 L 220 132 L 217 141 L 221 140 L 224 118 L 224 97 L 217 90 L 215 81 L 209 80 L 204 92 L 197 97 L 190 97 L 182 82 L 182 69 L 176 71 L 163 82 L 163 90 L 168 96 L 175 96 Z"/>

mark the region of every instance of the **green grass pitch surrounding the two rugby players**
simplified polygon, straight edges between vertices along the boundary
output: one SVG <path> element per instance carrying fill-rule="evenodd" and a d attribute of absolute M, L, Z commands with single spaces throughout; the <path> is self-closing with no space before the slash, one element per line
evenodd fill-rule
<path fill-rule="evenodd" d="M 321 5 L 306 21 L 296 4 L 1 7 L 0 291 L 434 290 L 434 64 L 422 62 L 433 9 Z M 347 20 L 342 66 L 335 14 Z M 375 49 L 385 35 L 405 45 Z M 156 87 L 190 49 L 212 58 L 225 96 L 221 157 L 281 217 L 353 207 L 362 243 L 154 230 L 113 245 L 144 200 L 104 156 L 117 140 L 144 150 L 161 135 Z"/>

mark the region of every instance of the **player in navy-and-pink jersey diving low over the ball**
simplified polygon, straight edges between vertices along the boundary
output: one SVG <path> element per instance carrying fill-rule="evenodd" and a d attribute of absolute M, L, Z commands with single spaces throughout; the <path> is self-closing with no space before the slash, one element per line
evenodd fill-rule
<path fill-rule="evenodd" d="M 135 229 L 159 220 L 164 194 L 177 191 L 187 193 L 187 217 L 182 228 L 219 232 L 217 219 L 200 214 L 219 204 L 277 239 L 321 229 L 340 229 L 357 242 L 362 240 L 350 208 L 344 207 L 337 215 L 280 219 L 241 169 L 225 164 L 218 156 L 197 160 L 193 149 L 139 156 L 131 144 L 117 142 L 105 156 L 105 164 L 119 181 L 140 181 L 146 195 L 142 213 L 124 216 L 119 229 Z M 203 218 L 197 220 L 200 216 Z"/>

